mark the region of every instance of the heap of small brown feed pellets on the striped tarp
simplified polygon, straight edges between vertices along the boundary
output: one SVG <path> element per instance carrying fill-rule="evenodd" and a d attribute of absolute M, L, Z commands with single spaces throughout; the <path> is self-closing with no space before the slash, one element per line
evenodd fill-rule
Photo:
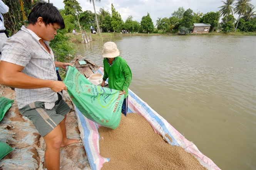
<path fill-rule="evenodd" d="M 110 158 L 101 170 L 206 170 L 182 147 L 170 145 L 145 118 L 123 114 L 117 129 L 99 127 L 100 155 Z"/>

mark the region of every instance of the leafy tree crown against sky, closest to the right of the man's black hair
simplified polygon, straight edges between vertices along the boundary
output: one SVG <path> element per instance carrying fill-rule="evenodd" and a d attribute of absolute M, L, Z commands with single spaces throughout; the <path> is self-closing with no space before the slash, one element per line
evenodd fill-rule
<path fill-rule="evenodd" d="M 65 5 L 65 15 L 76 16 L 77 13 L 79 14 L 80 12 L 82 12 L 82 7 L 80 6 L 80 3 L 78 3 L 76 0 L 64 0 L 63 3 Z"/>

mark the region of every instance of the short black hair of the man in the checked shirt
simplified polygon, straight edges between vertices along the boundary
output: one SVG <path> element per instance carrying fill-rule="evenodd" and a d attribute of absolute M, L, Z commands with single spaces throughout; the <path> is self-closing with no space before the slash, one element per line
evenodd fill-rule
<path fill-rule="evenodd" d="M 52 3 L 39 1 L 35 4 L 34 8 L 28 15 L 28 24 L 35 24 L 38 17 L 43 18 L 45 26 L 49 24 L 58 24 L 60 29 L 65 28 L 64 20 L 60 14 L 58 8 L 54 7 Z"/>

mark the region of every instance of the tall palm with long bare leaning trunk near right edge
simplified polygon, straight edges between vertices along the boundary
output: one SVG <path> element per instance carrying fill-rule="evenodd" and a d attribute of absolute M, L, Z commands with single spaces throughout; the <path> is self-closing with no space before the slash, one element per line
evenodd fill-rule
<path fill-rule="evenodd" d="M 249 9 L 249 8 L 252 8 L 253 7 L 253 4 L 249 3 L 251 0 L 239 0 L 238 2 L 235 3 L 235 8 L 234 8 L 234 12 L 236 14 L 239 14 L 238 16 L 238 22 L 236 24 L 236 29 L 238 27 L 238 23 L 239 23 L 239 20 L 240 20 L 240 17 L 241 15 L 244 15 L 246 14 L 246 11 Z M 236 29 L 235 29 L 235 32 L 236 32 Z"/>

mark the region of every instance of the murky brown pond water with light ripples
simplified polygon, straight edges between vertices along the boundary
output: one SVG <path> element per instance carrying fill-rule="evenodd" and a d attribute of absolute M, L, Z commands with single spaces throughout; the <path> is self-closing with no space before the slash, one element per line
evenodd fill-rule
<path fill-rule="evenodd" d="M 221 169 L 256 169 L 256 38 L 112 38 L 132 70 L 130 89 Z M 103 65 L 106 41 L 77 44 Z"/>

